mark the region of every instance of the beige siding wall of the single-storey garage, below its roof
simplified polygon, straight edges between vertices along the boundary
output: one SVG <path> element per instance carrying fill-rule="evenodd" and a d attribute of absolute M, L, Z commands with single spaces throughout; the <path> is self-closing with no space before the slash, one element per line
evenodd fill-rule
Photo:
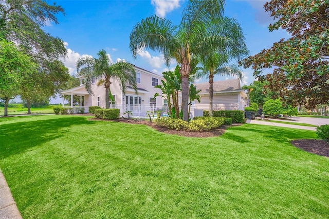
<path fill-rule="evenodd" d="M 236 93 L 214 94 L 212 99 L 213 110 L 240 110 L 238 99 L 240 100 L 240 96 Z M 209 95 L 202 95 L 200 103 L 194 101 L 194 107 L 208 111 Z"/>

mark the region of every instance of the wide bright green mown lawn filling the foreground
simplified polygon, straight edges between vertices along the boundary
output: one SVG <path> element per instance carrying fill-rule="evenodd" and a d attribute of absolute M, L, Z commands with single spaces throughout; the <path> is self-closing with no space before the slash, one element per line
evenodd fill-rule
<path fill-rule="evenodd" d="M 85 116 L 0 118 L 0 167 L 23 218 L 329 218 L 329 159 L 244 124 L 187 138 Z"/>

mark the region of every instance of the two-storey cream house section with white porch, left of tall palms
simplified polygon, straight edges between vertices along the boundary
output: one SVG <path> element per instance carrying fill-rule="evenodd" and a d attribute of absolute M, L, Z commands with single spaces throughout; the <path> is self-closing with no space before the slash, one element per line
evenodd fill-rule
<path fill-rule="evenodd" d="M 122 94 L 121 87 L 116 80 L 112 80 L 110 86 L 114 101 L 110 100 L 110 107 L 119 108 L 120 115 L 126 111 L 131 111 L 133 115 L 146 115 L 147 111 L 155 111 L 158 108 L 166 107 L 166 103 L 161 98 L 161 90 L 155 88 L 155 85 L 161 83 L 163 79 L 161 76 L 154 74 L 151 71 L 142 69 L 134 65 L 136 70 L 136 82 L 137 82 L 137 94 L 131 86 L 127 86 L 125 94 Z M 82 81 L 83 77 L 80 77 L 80 86 L 74 87 L 68 90 L 64 90 L 61 95 L 69 95 L 71 98 L 71 108 L 75 109 L 75 112 L 79 108 L 84 107 L 84 112 L 88 112 L 89 106 L 100 106 L 105 108 L 105 88 L 104 86 L 97 86 L 97 79 L 92 81 L 92 90 L 94 95 L 89 94 L 85 89 Z M 160 96 L 153 99 L 155 93 L 159 93 Z M 73 100 L 79 99 L 79 105 L 73 105 Z"/>

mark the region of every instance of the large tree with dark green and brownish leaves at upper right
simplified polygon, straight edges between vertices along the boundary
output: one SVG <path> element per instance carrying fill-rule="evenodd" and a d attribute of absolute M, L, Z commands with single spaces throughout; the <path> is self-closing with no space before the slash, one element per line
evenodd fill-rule
<path fill-rule="evenodd" d="M 285 29 L 291 38 L 243 61 L 253 74 L 278 92 L 286 104 L 314 108 L 329 101 L 329 1 L 272 0 L 264 5 L 276 22 L 269 30 Z M 265 68 L 273 73 L 262 76 Z"/>

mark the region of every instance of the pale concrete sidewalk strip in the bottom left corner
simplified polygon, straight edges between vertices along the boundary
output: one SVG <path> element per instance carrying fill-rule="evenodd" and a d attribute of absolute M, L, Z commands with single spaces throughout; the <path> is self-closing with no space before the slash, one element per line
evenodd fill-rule
<path fill-rule="evenodd" d="M 4 174 L 0 170 L 0 218 L 1 219 L 22 219 L 17 209 L 14 198 L 11 195 Z"/>

